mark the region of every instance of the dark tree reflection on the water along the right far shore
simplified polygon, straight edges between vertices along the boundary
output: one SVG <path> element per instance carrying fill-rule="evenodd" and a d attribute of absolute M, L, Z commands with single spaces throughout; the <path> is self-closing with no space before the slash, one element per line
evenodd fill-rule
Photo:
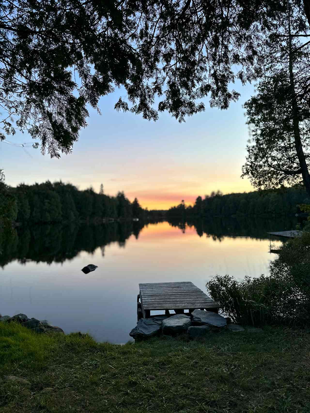
<path fill-rule="evenodd" d="M 222 241 L 224 236 L 250 237 L 255 239 L 268 239 L 267 232 L 284 231 L 296 228 L 300 218 L 286 217 L 282 219 L 264 218 L 212 218 L 210 220 L 169 220 L 169 224 L 180 228 L 184 233 L 186 226 L 194 227 L 199 237 L 206 235 L 214 241 Z"/>

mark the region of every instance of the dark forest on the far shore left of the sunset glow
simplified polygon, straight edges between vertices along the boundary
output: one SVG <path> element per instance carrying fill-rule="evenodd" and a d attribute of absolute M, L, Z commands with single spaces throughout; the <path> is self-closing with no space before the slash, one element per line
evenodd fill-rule
<path fill-rule="evenodd" d="M 3 184 L 2 184 L 3 185 Z M 10 221 L 20 223 L 57 223 L 93 221 L 103 218 L 144 218 L 146 211 L 138 199 L 130 202 L 124 192 L 116 197 L 96 193 L 92 188 L 80 191 L 61 181 L 2 188 L 1 212 Z"/>

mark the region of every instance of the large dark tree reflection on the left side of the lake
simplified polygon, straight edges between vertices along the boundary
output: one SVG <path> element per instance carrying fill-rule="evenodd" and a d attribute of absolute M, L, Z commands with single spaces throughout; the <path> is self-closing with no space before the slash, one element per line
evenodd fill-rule
<path fill-rule="evenodd" d="M 93 254 L 98 247 L 104 256 L 106 245 L 117 242 L 125 247 L 132 234 L 138 238 L 144 225 L 143 221 L 126 221 L 106 225 L 33 225 L 0 231 L 0 266 L 15 259 L 21 264 L 64 262 L 81 251 Z"/>

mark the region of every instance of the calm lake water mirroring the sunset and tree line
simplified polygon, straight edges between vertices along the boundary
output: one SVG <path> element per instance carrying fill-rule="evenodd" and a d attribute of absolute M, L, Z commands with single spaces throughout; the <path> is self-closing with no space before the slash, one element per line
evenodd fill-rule
<path fill-rule="evenodd" d="M 266 232 L 296 223 L 238 218 L 20 227 L 0 255 L 0 313 L 25 313 L 66 333 L 124 343 L 136 325 L 139 282 L 191 281 L 206 292 L 216 274 L 268 274 L 277 255 L 269 253 Z M 273 238 L 272 244 L 281 241 Z M 84 274 L 81 268 L 90 263 L 98 268 Z"/>

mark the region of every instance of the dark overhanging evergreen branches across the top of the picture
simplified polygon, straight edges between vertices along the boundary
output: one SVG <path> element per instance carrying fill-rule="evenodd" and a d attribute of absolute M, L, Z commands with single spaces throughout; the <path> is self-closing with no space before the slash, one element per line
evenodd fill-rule
<path fill-rule="evenodd" d="M 26 130 L 59 157 L 86 126 L 86 105 L 120 86 L 128 99 L 115 108 L 144 119 L 167 110 L 184 121 L 206 96 L 226 109 L 239 97 L 231 83 L 261 76 L 263 40 L 281 33 L 288 5 L 305 32 L 300 1 L 0 0 L 4 132 Z"/>

